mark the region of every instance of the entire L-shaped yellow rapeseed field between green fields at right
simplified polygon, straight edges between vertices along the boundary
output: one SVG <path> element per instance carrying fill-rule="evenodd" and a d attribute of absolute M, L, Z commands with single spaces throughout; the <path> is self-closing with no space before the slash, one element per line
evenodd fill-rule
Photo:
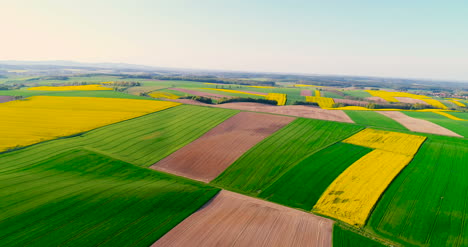
<path fill-rule="evenodd" d="M 380 195 L 413 159 L 425 139 L 423 136 L 365 129 L 344 140 L 375 150 L 341 173 L 322 194 L 314 211 L 364 226 Z"/>

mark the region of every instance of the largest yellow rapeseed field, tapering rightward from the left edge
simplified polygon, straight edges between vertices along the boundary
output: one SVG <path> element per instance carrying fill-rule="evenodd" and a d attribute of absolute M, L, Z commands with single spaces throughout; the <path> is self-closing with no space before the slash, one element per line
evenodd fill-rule
<path fill-rule="evenodd" d="M 92 97 L 34 96 L 0 104 L 0 152 L 85 132 L 179 103 Z"/>

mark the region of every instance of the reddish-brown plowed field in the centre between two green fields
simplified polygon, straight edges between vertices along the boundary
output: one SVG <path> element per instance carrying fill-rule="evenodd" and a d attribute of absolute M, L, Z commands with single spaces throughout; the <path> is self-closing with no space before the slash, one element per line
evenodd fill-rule
<path fill-rule="evenodd" d="M 294 119 L 240 112 L 151 168 L 209 182 L 259 141 Z"/>

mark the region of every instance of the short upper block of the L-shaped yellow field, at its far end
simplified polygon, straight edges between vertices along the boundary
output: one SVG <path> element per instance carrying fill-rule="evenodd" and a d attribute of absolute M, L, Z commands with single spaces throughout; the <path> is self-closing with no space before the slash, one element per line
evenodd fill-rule
<path fill-rule="evenodd" d="M 344 143 L 414 155 L 426 137 L 392 131 L 365 129 L 344 140 Z"/>

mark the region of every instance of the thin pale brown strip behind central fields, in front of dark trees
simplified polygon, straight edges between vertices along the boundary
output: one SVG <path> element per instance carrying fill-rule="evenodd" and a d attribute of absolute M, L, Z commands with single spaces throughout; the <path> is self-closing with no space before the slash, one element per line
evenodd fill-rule
<path fill-rule="evenodd" d="M 256 111 L 256 112 L 268 112 L 281 115 L 290 115 L 295 117 L 314 118 L 321 120 L 330 120 L 345 123 L 354 123 L 351 118 L 340 110 L 325 110 L 318 107 L 304 106 L 304 105 L 285 105 L 285 106 L 273 106 L 260 103 L 226 103 L 216 105 L 216 107 L 245 110 L 245 111 Z"/>

